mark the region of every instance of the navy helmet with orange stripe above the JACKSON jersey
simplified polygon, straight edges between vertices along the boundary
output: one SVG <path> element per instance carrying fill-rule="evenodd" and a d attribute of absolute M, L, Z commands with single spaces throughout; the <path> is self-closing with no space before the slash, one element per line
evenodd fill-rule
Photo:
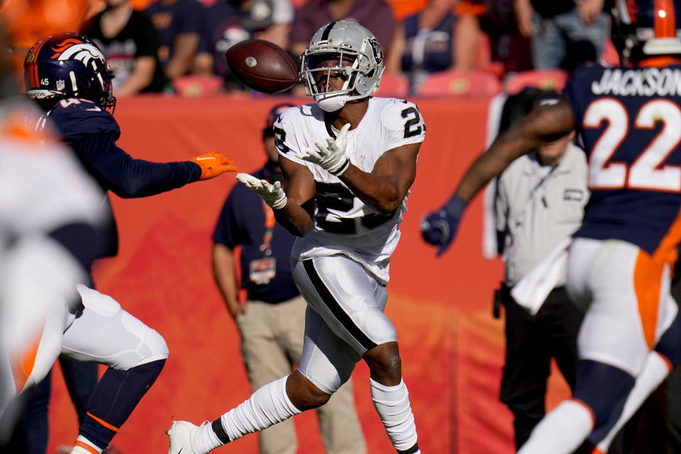
<path fill-rule="evenodd" d="M 681 57 L 681 0 L 616 0 L 612 42 L 623 64 Z"/>

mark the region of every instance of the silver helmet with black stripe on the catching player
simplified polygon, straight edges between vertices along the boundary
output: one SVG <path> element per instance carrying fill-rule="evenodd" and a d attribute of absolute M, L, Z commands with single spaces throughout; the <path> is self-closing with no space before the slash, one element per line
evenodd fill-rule
<path fill-rule="evenodd" d="M 351 99 L 374 93 L 385 70 L 383 52 L 373 33 L 356 22 L 334 21 L 321 27 L 303 52 L 301 77 L 305 92 L 327 112 L 343 108 Z M 326 84 L 319 77 L 326 76 Z M 331 75 L 341 74 L 342 89 L 329 90 Z"/>

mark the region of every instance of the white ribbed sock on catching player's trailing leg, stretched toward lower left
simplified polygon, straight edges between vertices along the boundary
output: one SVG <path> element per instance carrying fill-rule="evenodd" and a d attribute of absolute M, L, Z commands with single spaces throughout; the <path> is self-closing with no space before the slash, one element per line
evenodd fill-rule
<path fill-rule="evenodd" d="M 287 377 L 265 384 L 251 394 L 250 398 L 220 417 L 229 441 L 246 433 L 262 431 L 301 411 L 292 404 L 286 394 Z"/>

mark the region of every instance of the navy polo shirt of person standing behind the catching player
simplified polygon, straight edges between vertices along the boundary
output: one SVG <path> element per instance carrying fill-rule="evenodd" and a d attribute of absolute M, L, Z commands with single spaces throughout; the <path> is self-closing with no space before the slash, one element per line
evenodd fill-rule
<path fill-rule="evenodd" d="M 282 181 L 282 174 L 272 173 L 267 167 L 255 172 L 254 177 L 270 182 Z M 218 218 L 213 241 L 235 248 L 241 245 L 241 288 L 248 290 L 248 299 L 278 303 L 297 297 L 299 292 L 291 274 L 291 248 L 295 237 L 279 223 L 272 233 L 272 257 L 276 259 L 276 275 L 267 284 L 256 284 L 249 279 L 250 262 L 265 258 L 260 245 L 265 235 L 265 209 L 258 194 L 237 183 L 231 190 Z"/>

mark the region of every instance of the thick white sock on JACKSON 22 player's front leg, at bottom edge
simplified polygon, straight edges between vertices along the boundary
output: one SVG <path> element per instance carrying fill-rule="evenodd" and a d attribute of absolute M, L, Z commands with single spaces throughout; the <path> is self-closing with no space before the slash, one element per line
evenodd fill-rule
<path fill-rule="evenodd" d="M 574 400 L 566 400 L 539 421 L 518 454 L 570 454 L 594 428 L 591 411 Z"/>

